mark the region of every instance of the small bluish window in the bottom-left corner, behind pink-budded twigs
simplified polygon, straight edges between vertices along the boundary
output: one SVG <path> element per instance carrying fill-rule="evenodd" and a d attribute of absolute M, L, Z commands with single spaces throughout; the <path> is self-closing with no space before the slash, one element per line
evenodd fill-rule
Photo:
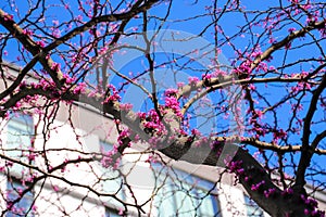
<path fill-rule="evenodd" d="M 23 197 L 20 195 L 28 187 L 23 187 L 18 181 L 8 181 L 7 184 L 7 204 L 10 208 L 10 212 L 7 213 L 7 217 L 16 217 L 16 216 L 30 216 L 33 217 L 33 201 L 34 195 L 28 190 L 28 192 L 23 194 Z M 16 203 L 14 203 L 18 200 Z M 14 204 L 12 204 L 14 203 Z"/>

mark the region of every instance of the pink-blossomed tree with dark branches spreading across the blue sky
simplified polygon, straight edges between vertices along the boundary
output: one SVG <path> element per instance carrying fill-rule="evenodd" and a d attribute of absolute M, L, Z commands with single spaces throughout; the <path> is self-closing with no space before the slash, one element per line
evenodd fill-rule
<path fill-rule="evenodd" d="M 59 105 L 84 103 L 115 120 L 108 164 L 139 140 L 153 156 L 227 168 L 272 216 L 324 216 L 304 187 L 326 187 L 325 7 L 309 0 L 2 2 L 0 115 L 39 114 L 45 126 L 34 133 L 46 139 Z M 131 108 L 130 90 L 147 95 L 141 106 Z M 8 168 L 37 170 L 23 194 L 67 165 L 95 161 L 84 153 L 54 166 L 42 151 L 30 149 L 28 158 L 42 157 L 43 168 L 1 153 Z"/>

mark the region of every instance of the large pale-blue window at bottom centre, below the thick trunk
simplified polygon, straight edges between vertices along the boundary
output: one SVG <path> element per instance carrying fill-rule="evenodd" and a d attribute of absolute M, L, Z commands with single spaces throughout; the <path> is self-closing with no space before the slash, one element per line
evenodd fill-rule
<path fill-rule="evenodd" d="M 172 174 L 158 170 L 161 189 L 154 204 L 159 216 L 221 216 L 214 183 L 177 169 Z"/>

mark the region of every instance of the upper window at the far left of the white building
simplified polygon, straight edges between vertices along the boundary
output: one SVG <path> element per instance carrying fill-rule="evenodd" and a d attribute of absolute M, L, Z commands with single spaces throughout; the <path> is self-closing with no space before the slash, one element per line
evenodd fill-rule
<path fill-rule="evenodd" d="M 32 138 L 34 137 L 33 117 L 30 115 L 15 114 L 8 122 L 7 127 L 5 155 L 24 163 L 30 163 L 28 159 Z M 20 175 L 23 166 L 14 164 L 11 171 Z"/>

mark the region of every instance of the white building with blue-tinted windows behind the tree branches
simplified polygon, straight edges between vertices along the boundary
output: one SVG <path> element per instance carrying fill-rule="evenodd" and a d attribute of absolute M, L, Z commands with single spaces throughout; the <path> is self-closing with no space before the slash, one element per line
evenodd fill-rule
<path fill-rule="evenodd" d="M 133 144 L 116 169 L 104 168 L 115 124 L 85 105 L 12 115 L 0 130 L 2 216 L 267 216 L 223 168 L 164 156 L 150 164 L 145 144 Z M 314 194 L 325 208 L 325 192 Z"/>

